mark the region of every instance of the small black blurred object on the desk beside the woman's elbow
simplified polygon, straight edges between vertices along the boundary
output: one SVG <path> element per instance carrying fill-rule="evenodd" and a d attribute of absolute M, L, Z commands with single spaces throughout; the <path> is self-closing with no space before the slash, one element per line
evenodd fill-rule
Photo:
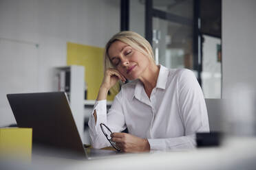
<path fill-rule="evenodd" d="M 198 147 L 216 147 L 221 144 L 222 133 L 210 132 L 210 133 L 197 133 L 196 143 Z"/>

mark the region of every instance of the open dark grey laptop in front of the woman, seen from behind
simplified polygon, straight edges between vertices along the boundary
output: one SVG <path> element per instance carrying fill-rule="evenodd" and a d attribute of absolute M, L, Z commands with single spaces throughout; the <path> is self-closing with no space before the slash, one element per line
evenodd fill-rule
<path fill-rule="evenodd" d="M 65 92 L 8 94 L 7 98 L 18 127 L 32 127 L 33 151 L 34 146 L 47 147 L 62 156 L 86 159 L 120 153 L 84 147 Z"/>

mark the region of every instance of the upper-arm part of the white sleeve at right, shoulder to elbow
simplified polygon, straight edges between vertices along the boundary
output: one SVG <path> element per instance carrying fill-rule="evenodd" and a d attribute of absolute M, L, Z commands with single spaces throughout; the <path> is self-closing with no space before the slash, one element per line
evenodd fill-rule
<path fill-rule="evenodd" d="M 202 89 L 192 71 L 185 69 L 180 76 L 179 108 L 185 136 L 195 132 L 209 132 L 209 120 Z"/>

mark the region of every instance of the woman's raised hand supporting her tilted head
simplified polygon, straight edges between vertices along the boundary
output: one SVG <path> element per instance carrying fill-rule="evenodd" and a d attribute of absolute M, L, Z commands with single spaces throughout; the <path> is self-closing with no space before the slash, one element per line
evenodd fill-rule
<path fill-rule="evenodd" d="M 125 77 L 116 69 L 107 69 L 105 72 L 103 82 L 100 86 L 100 88 L 106 88 L 109 90 L 112 86 L 118 82 L 118 80 L 121 80 L 122 82 L 125 82 Z"/>

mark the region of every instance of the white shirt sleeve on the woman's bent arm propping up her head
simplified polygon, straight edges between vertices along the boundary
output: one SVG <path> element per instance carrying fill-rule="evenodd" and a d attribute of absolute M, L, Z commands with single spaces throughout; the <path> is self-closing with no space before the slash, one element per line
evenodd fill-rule
<path fill-rule="evenodd" d="M 94 110 L 96 110 L 97 121 L 95 123 L 94 119 Z M 94 105 L 94 110 L 89 117 L 89 136 L 91 140 L 92 147 L 94 148 L 103 148 L 110 146 L 109 141 L 104 136 L 100 123 L 104 123 L 109 127 L 112 132 L 121 132 L 125 130 L 125 118 L 122 114 L 122 108 L 118 99 L 118 95 L 116 95 L 109 112 L 107 113 L 107 101 L 101 100 L 96 101 Z"/>

